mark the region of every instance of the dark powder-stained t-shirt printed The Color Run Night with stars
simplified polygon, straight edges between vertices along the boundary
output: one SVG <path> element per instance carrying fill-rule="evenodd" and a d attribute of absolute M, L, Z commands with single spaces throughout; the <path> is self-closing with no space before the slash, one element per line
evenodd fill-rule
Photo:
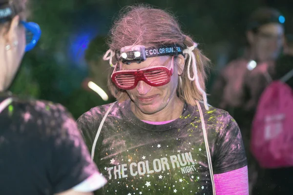
<path fill-rule="evenodd" d="M 213 107 L 205 111 L 214 174 L 247 165 L 239 128 L 230 115 Z M 110 104 L 92 108 L 78 119 L 91 151 Z M 102 195 L 211 195 L 212 184 L 201 118 L 188 105 L 178 119 L 148 124 L 130 110 L 130 100 L 115 102 L 97 139 L 94 161 L 108 183 Z"/>

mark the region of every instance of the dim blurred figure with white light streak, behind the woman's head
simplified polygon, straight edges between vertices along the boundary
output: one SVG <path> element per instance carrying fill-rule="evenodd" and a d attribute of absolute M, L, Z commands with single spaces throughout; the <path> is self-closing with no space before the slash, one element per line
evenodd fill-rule
<path fill-rule="evenodd" d="M 88 66 L 88 77 L 84 78 L 81 86 L 70 93 L 63 105 L 71 111 L 73 117 L 78 118 L 92 107 L 110 103 L 115 100 L 108 86 L 109 63 L 103 60 L 106 52 L 105 36 L 97 36 L 92 39 L 85 51 L 85 60 Z M 92 86 L 93 85 L 93 86 Z M 106 98 L 102 98 L 95 87 L 100 87 Z M 91 88 L 90 88 L 91 87 Z M 74 99 L 74 101 L 72 101 Z"/>

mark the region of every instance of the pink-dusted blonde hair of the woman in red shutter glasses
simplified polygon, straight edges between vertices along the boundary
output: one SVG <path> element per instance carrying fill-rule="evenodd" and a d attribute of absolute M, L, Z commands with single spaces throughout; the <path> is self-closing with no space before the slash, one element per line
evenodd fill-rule
<path fill-rule="evenodd" d="M 108 46 L 112 51 L 120 51 L 122 47 L 128 45 L 160 46 L 174 43 L 183 48 L 194 45 L 193 40 L 182 32 L 174 16 L 167 11 L 141 4 L 129 6 L 122 10 L 119 19 L 114 22 L 110 30 Z M 196 59 L 199 85 L 201 89 L 205 90 L 209 59 L 197 48 L 192 52 Z M 189 58 L 191 57 L 188 55 L 185 60 L 184 71 L 181 75 L 182 83 L 178 79 L 177 94 L 188 104 L 196 105 L 196 100 L 202 100 L 203 96 L 195 82 L 188 78 L 188 71 L 190 71 L 190 77 L 193 77 L 193 71 L 188 70 Z M 112 62 L 113 64 L 116 63 L 115 57 Z M 126 91 L 119 89 L 110 77 L 108 86 L 111 94 L 118 101 L 125 101 L 129 98 Z"/>

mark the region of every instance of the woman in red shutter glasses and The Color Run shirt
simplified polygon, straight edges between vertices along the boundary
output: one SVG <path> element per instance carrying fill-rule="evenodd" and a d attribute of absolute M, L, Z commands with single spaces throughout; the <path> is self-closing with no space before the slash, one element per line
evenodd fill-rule
<path fill-rule="evenodd" d="M 248 195 L 239 128 L 207 103 L 209 60 L 167 12 L 129 7 L 104 56 L 117 101 L 78 119 L 103 195 Z"/>

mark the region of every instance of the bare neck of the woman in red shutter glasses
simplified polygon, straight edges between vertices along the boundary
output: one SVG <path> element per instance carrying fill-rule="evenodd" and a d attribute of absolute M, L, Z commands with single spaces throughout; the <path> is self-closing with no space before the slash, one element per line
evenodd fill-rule
<path fill-rule="evenodd" d="M 184 104 L 184 101 L 176 96 L 173 100 L 168 102 L 167 106 L 163 110 L 154 114 L 143 113 L 133 102 L 131 102 L 130 106 L 131 111 L 139 119 L 159 122 L 179 118 L 182 115 Z"/>

